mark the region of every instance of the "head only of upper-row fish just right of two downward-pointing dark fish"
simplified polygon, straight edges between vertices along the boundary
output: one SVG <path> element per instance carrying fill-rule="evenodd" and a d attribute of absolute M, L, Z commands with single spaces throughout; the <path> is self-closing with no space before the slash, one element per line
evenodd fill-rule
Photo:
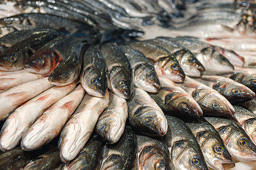
<path fill-rule="evenodd" d="M 160 82 L 154 66 L 148 64 L 137 65 L 134 69 L 134 86 L 141 87 L 148 92 L 158 92 Z"/>

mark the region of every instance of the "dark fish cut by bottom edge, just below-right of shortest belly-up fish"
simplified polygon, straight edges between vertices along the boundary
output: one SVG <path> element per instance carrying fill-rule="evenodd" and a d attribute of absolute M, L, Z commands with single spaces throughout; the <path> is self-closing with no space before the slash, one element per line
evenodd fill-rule
<path fill-rule="evenodd" d="M 135 134 L 126 126 L 122 137 L 112 145 L 103 148 L 103 158 L 99 169 L 131 169 L 135 160 Z"/>

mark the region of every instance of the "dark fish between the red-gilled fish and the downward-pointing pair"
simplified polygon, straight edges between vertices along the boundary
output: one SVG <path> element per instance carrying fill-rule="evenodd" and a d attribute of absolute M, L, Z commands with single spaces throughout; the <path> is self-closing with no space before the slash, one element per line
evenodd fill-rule
<path fill-rule="evenodd" d="M 65 86 L 79 78 L 82 67 L 82 54 L 86 49 L 83 42 L 74 42 L 68 49 L 68 58 L 61 61 L 48 76 L 49 82 L 55 86 Z"/>

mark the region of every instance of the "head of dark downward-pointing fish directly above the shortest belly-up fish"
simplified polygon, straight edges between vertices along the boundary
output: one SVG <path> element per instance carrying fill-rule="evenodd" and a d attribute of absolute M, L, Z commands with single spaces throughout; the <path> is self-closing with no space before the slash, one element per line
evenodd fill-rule
<path fill-rule="evenodd" d="M 133 92 L 132 73 L 127 73 L 120 66 L 113 67 L 109 73 L 109 86 L 115 95 L 130 99 Z"/>

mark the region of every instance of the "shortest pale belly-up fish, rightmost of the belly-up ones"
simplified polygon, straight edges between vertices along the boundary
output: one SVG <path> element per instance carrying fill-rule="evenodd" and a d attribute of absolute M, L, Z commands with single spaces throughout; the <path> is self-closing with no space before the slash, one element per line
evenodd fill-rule
<path fill-rule="evenodd" d="M 108 144 L 117 143 L 125 130 L 127 117 L 126 100 L 109 92 L 109 106 L 98 118 L 95 126 L 96 133 Z"/>

